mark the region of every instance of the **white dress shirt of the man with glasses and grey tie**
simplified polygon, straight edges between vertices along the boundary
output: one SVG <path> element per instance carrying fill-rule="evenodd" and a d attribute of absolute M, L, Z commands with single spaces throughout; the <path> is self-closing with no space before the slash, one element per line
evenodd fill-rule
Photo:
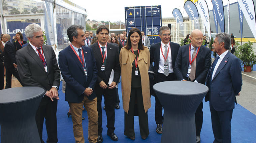
<path fill-rule="evenodd" d="M 168 42 L 167 47 L 171 48 L 169 46 L 169 44 L 170 44 L 170 42 Z M 164 46 L 165 46 L 165 44 L 163 42 L 161 42 L 161 45 L 162 45 L 162 50 L 163 50 L 163 54 L 164 54 L 164 50 L 165 50 Z M 162 55 L 161 48 L 159 50 L 160 50 L 160 55 L 159 55 L 159 68 L 158 68 L 158 72 L 164 74 L 164 61 L 165 60 L 164 60 L 164 57 Z M 171 49 L 169 49 L 169 52 L 168 52 L 168 62 L 169 62 L 169 73 L 173 73 L 172 61 L 171 61 Z"/>

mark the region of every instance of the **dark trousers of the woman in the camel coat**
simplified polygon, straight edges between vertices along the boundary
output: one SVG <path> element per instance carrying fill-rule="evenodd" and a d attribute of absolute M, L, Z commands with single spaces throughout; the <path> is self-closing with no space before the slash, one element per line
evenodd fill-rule
<path fill-rule="evenodd" d="M 139 116 L 139 130 L 141 136 L 149 136 L 149 120 L 148 111 L 145 112 L 143 106 L 142 90 L 141 87 L 131 88 L 131 96 L 129 103 L 128 114 L 124 112 L 124 135 L 128 137 L 135 136 L 134 133 L 134 105 L 137 100 L 138 116 Z"/>

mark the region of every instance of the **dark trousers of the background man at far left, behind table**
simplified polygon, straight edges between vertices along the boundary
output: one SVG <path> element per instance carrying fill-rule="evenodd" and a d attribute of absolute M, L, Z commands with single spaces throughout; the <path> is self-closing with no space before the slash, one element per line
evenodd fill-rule
<path fill-rule="evenodd" d="M 5 73 L 5 80 L 6 80 L 5 89 L 6 88 L 11 88 L 11 75 L 16 77 L 21 83 L 21 79 L 20 79 L 19 73 L 17 71 L 17 68 L 14 68 L 14 67 L 7 68 L 6 73 Z"/>

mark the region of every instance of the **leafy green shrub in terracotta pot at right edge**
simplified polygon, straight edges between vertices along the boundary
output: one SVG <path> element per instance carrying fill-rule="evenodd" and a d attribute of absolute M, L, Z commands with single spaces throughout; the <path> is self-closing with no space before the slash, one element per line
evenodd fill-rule
<path fill-rule="evenodd" d="M 237 45 L 237 49 L 235 51 L 235 56 L 241 60 L 242 65 L 244 65 L 245 72 L 251 72 L 253 65 L 256 64 L 256 55 L 252 45 L 252 42 L 248 41 L 243 45 Z"/>

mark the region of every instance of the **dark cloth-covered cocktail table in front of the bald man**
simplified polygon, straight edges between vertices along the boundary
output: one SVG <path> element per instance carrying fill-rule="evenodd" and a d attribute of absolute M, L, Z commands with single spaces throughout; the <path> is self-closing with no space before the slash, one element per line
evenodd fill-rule
<path fill-rule="evenodd" d="M 161 143 L 195 143 L 195 112 L 208 87 L 190 81 L 165 81 L 153 89 L 164 108 Z"/>

